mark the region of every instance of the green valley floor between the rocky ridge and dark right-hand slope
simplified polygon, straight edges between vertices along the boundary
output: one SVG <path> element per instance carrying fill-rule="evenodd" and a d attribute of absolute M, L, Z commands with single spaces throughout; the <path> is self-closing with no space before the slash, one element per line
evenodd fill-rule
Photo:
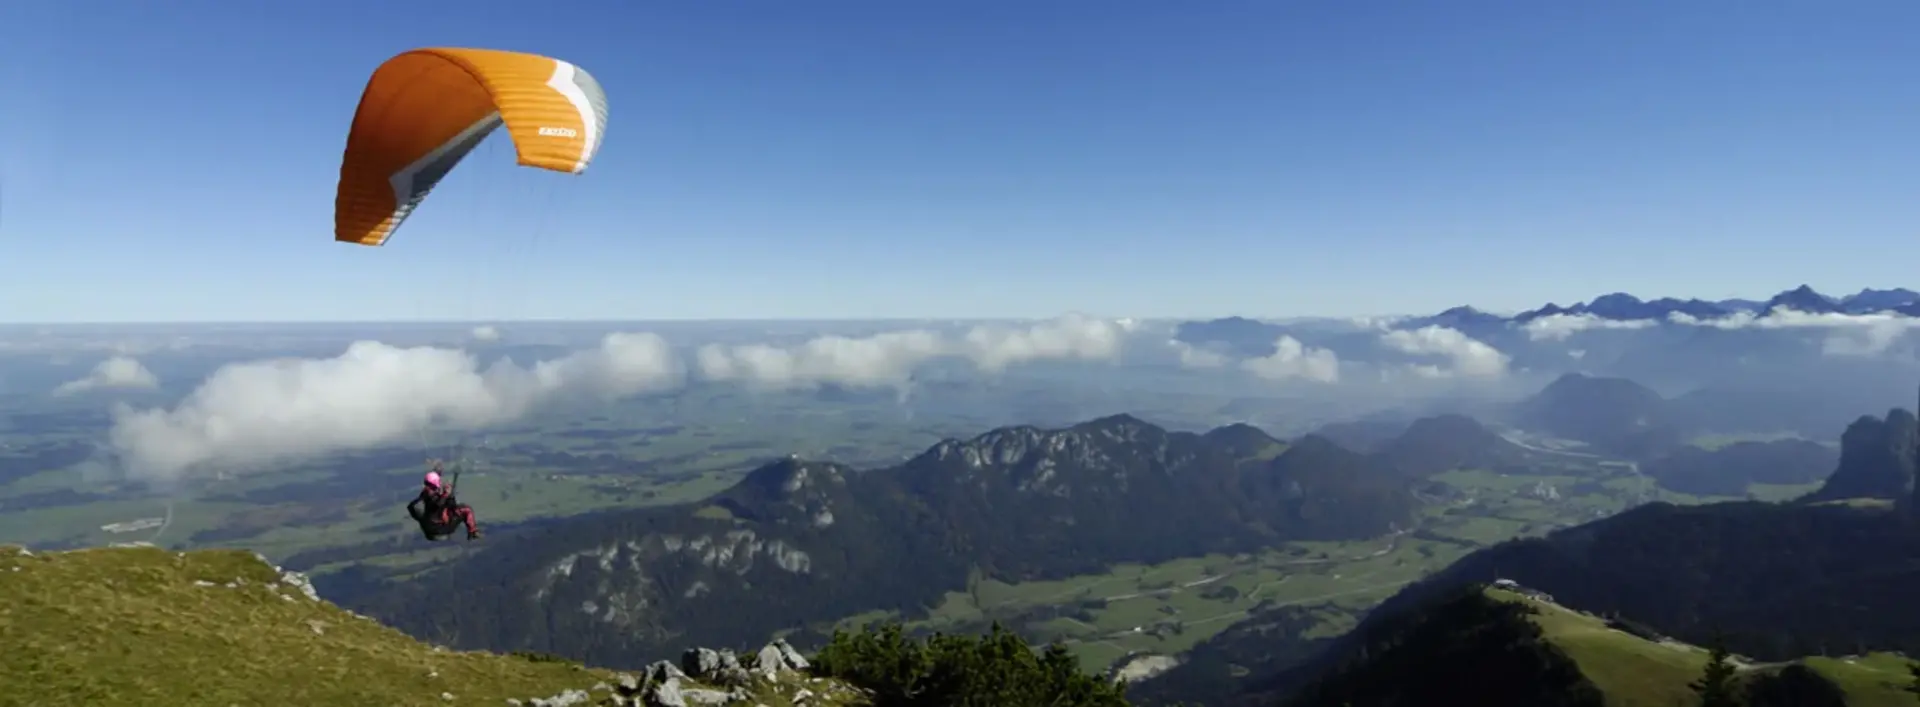
<path fill-rule="evenodd" d="M 1402 536 L 1361 542 L 1294 542 L 1252 555 L 1210 555 L 1162 565 L 1117 565 L 1102 574 L 1083 574 L 1050 582 L 1006 584 L 979 580 L 970 592 L 948 592 L 925 621 L 925 630 L 977 630 L 1000 621 L 1023 630 L 1035 644 L 1064 640 L 1079 655 L 1083 669 L 1100 670 L 1133 653 L 1171 655 L 1219 634 L 1248 617 L 1261 601 L 1267 607 L 1311 609 L 1321 621 L 1306 636 L 1332 636 L 1352 628 L 1359 617 L 1400 586 L 1438 571 L 1475 548 L 1540 534 L 1555 526 L 1584 523 L 1596 513 L 1624 507 L 1645 486 L 1624 467 L 1590 469 L 1611 475 L 1597 492 L 1572 494 L 1580 476 L 1501 476 L 1486 471 L 1452 471 L 1436 480 L 1473 496 L 1465 505 L 1423 509 L 1423 530 L 1438 540 Z M 1559 500 L 1530 492 L 1538 484 L 1555 486 Z M 1375 555 L 1379 553 L 1379 555 Z M 1208 584 L 1185 586 L 1208 576 Z M 1233 588 L 1236 596 L 1221 596 Z M 1213 592 L 1208 592 L 1213 590 Z M 1212 596 L 1208 596 L 1212 594 Z M 1079 617 L 1046 617 L 1046 611 L 1073 611 L 1089 599 L 1104 607 Z M 862 613 L 841 619 L 841 626 L 860 626 L 889 613 Z M 1140 626 L 1140 632 L 1133 628 Z"/>

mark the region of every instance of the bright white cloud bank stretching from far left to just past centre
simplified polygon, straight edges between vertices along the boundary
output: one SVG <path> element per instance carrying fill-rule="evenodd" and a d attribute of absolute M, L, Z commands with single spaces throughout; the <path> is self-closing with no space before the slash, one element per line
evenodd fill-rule
<path fill-rule="evenodd" d="M 703 346 L 691 365 L 664 338 L 630 332 L 559 359 L 488 367 L 463 350 L 355 342 L 328 359 L 221 367 L 171 409 L 115 405 L 109 444 L 131 476 L 167 480 L 369 450 L 430 428 L 472 430 L 559 400 L 674 390 L 691 377 L 766 388 L 885 388 L 906 386 L 918 365 L 939 357 L 989 373 L 1043 359 L 1116 359 L 1129 332 L 1127 321 L 1068 315 L 960 336 L 900 330 L 797 346 Z"/>

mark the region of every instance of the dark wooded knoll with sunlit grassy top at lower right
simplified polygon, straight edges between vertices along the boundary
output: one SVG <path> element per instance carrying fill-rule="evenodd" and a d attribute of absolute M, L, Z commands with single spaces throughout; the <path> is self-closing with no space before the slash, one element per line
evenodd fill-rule
<path fill-rule="evenodd" d="M 1628 630 L 1619 630 L 1628 628 Z M 1645 636 L 1645 638 L 1642 638 Z M 1298 690 L 1246 695 L 1288 707 L 1674 707 L 1709 651 L 1609 622 L 1528 592 L 1463 586 L 1371 619 Z M 1891 653 L 1745 663 L 1730 657 L 1741 707 L 1912 707 L 1907 659 Z"/>

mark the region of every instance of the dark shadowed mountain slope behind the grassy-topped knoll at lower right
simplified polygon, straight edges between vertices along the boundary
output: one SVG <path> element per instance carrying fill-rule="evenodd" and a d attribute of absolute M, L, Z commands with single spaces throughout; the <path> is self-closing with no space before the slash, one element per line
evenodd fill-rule
<path fill-rule="evenodd" d="M 1574 674 L 1555 667 L 1551 657 L 1494 670 L 1494 663 L 1488 661 L 1517 659 L 1517 655 L 1498 647 L 1469 649 L 1455 642 L 1455 649 L 1469 653 L 1465 659 L 1488 665 L 1486 672 L 1475 674 L 1473 670 L 1480 669 L 1453 663 L 1465 674 L 1475 674 L 1469 680 L 1475 684 L 1501 678 L 1496 674 L 1501 670 L 1509 672 L 1507 678 L 1511 672 L 1528 670 L 1534 674 L 1528 678 L 1534 688 L 1549 686 L 1555 695 L 1574 697 L 1590 690 L 1590 686 L 1580 688 L 1582 680 L 1574 680 L 1576 676 L 1594 682 L 1613 676 L 1619 686 L 1609 690 L 1607 705 L 1668 705 L 1674 697 L 1692 697 L 1684 688 L 1686 680 L 1697 678 L 1705 663 L 1701 655 L 1705 651 L 1676 653 L 1676 642 L 1724 646 L 1743 663 L 1774 670 L 1805 663 L 1845 669 L 1864 663 L 1862 655 L 1876 651 L 1912 655 L 1920 649 L 1920 613 L 1912 609 L 1910 599 L 1912 592 L 1920 590 L 1916 523 L 1920 521 L 1905 509 L 1851 503 L 1644 505 L 1546 538 L 1511 540 L 1471 553 L 1386 599 L 1346 636 L 1323 640 L 1296 655 L 1292 663 L 1269 663 L 1267 672 L 1244 682 L 1240 694 L 1219 695 L 1208 703 L 1275 705 L 1284 695 L 1329 690 L 1346 694 L 1344 699 L 1352 699 L 1354 705 L 1394 703 L 1357 697 L 1354 690 L 1361 690 L 1367 680 L 1356 682 L 1354 676 L 1340 678 L 1340 674 L 1371 674 L 1373 682 L 1380 682 L 1382 672 L 1390 672 L 1419 684 L 1411 678 L 1411 669 L 1394 669 L 1390 665 L 1394 661 L 1380 653 L 1419 644 L 1421 640 L 1413 636 L 1423 622 L 1467 622 L 1469 626 L 1444 630 L 1455 638 L 1482 630 L 1505 634 L 1494 642 L 1496 646 L 1519 647 L 1538 642 L 1538 636 L 1528 638 L 1528 632 L 1511 624 L 1501 626 L 1498 617 L 1486 615 L 1488 607 L 1457 603 L 1463 588 L 1494 582 L 1513 582 L 1534 596 L 1549 597 L 1548 601 L 1557 607 L 1555 613 L 1569 613 L 1572 607 L 1586 617 L 1615 619 L 1605 622 L 1590 619 L 1592 626 L 1582 630 L 1588 646 L 1574 646 L 1572 651 L 1572 657 L 1584 663 Z M 1622 649 L 1620 644 L 1634 642 L 1634 636 L 1645 640 L 1644 647 Z M 1624 655 L 1611 659 L 1592 655 L 1599 649 Z M 1436 653 L 1434 646 L 1415 653 L 1421 653 L 1423 661 L 1452 663 Z M 1805 661 L 1809 655 L 1820 659 Z M 1678 678 L 1665 657 L 1682 665 Z M 1405 661 L 1409 655 L 1402 653 L 1400 659 Z M 1891 670 L 1880 667 L 1872 670 L 1874 674 L 1857 678 L 1866 678 L 1864 688 L 1872 692 L 1901 695 L 1912 682 L 1903 663 L 1893 657 Z M 1204 678 L 1185 676 L 1183 684 L 1198 680 Z M 1665 695 L 1620 699 L 1619 692 L 1638 692 L 1636 684 L 1645 686 L 1653 680 L 1667 682 Z M 1538 694 L 1534 697 L 1538 699 Z M 1538 703 L 1597 705 L 1590 699 Z M 1882 701 L 1849 697 L 1772 703 Z"/>

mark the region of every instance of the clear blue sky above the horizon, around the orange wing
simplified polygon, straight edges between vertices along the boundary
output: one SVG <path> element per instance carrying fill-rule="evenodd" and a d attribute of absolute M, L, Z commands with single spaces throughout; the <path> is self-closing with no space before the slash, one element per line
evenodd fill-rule
<path fill-rule="evenodd" d="M 1914 284 L 1920 4 L 12 2 L 0 321 L 1135 317 Z M 367 75 L 564 58 L 332 242 Z"/>

